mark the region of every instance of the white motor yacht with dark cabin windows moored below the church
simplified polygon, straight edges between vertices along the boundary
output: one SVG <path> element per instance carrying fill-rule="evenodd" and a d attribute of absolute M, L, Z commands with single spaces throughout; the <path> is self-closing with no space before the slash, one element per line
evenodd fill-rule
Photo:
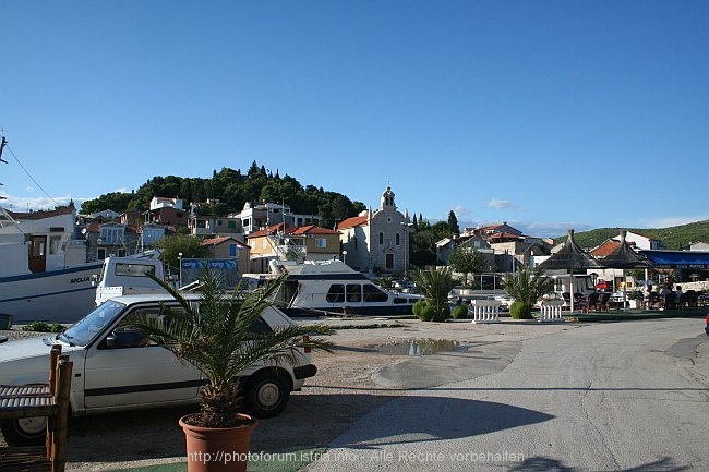
<path fill-rule="evenodd" d="M 244 274 L 244 288 L 253 289 L 265 280 L 285 276 L 275 296 L 288 316 L 411 316 L 420 294 L 383 289 L 340 259 L 310 261 L 302 245 L 289 238 L 275 238 L 277 257 L 268 262 L 268 274 Z"/>

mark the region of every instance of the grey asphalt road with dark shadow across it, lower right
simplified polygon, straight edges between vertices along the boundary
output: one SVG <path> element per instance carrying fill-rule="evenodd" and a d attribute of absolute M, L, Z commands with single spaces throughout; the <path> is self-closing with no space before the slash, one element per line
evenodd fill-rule
<path fill-rule="evenodd" d="M 470 346 L 373 378 L 414 389 L 357 420 L 309 472 L 709 470 L 704 319 Z"/>

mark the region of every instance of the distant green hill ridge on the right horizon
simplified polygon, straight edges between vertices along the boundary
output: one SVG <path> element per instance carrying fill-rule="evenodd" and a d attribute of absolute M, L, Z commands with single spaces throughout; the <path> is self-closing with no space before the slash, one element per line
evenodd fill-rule
<path fill-rule="evenodd" d="M 668 250 L 687 249 L 689 244 L 696 242 L 709 243 L 709 220 L 690 222 L 669 228 L 597 228 L 589 231 L 575 232 L 574 241 L 585 250 L 596 247 L 603 241 L 612 238 L 618 238 L 621 230 L 632 231 L 649 238 L 656 238 L 664 242 Z M 555 238 L 554 241 L 562 243 L 568 235 Z"/>

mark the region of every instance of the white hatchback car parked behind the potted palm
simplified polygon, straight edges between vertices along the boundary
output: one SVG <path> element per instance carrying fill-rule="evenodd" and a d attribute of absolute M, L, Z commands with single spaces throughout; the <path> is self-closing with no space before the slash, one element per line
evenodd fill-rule
<path fill-rule="evenodd" d="M 199 296 L 194 296 L 199 302 Z M 49 350 L 62 344 L 73 361 L 71 413 L 133 410 L 200 402 L 204 380 L 191 364 L 169 350 L 147 342 L 131 327 L 139 314 L 165 316 L 164 305 L 179 310 L 168 294 L 127 295 L 111 299 L 64 332 L 0 343 L 0 385 L 46 383 Z M 266 308 L 252 326 L 265 332 L 293 322 L 276 307 Z M 310 350 L 298 350 L 298 362 L 257 364 L 243 372 L 245 410 L 271 417 L 286 407 L 290 392 L 302 387 L 317 368 Z M 3 420 L 2 434 L 11 445 L 44 444 L 45 419 Z"/>

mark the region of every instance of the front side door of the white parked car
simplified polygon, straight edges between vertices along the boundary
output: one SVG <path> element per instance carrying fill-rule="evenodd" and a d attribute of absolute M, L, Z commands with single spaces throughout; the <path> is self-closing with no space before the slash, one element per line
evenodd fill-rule
<path fill-rule="evenodd" d="M 199 397 L 199 371 L 131 326 L 143 315 L 166 316 L 157 304 L 135 306 L 88 350 L 84 365 L 87 409 L 182 402 Z"/>

